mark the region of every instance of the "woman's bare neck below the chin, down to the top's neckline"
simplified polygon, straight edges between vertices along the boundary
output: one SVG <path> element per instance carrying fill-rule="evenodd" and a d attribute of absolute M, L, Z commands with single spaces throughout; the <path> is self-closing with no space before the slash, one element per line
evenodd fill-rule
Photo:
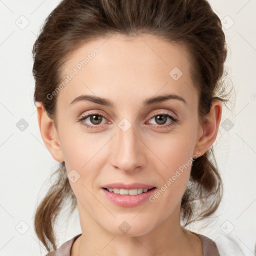
<path fill-rule="evenodd" d="M 80 213 L 82 211 L 79 211 Z M 177 216 L 178 219 L 175 218 Z M 90 215 L 80 215 L 82 235 L 76 239 L 71 255 L 199 255 L 202 253 L 200 239 L 180 226 L 179 216 L 179 214 L 176 216 L 172 214 L 171 217 L 160 224 L 156 223 L 154 228 L 145 233 L 136 229 L 132 234 L 131 225 L 127 233 L 120 235 L 120 232 L 109 232 L 102 228 L 93 218 L 89 219 Z M 81 221 L 85 219 L 86 222 Z M 140 234 L 137 235 L 135 232 Z"/>

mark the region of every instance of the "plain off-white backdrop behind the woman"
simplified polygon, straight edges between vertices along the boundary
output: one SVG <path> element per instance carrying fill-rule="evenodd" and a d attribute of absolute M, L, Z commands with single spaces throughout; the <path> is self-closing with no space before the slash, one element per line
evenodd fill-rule
<path fill-rule="evenodd" d="M 56 169 L 44 146 L 33 103 L 32 45 L 57 0 L 0 0 L 0 255 L 45 255 L 33 216 L 50 173 Z M 224 184 L 220 207 L 207 228 L 191 226 L 216 242 L 220 234 L 244 255 L 256 241 L 256 0 L 210 0 L 222 20 L 228 44 L 227 83 L 235 104 L 223 115 L 215 156 Z M 23 125 L 23 126 L 22 126 Z M 77 210 L 62 213 L 58 246 L 80 233 Z M 203 222 L 202 222 L 203 223 Z"/>

